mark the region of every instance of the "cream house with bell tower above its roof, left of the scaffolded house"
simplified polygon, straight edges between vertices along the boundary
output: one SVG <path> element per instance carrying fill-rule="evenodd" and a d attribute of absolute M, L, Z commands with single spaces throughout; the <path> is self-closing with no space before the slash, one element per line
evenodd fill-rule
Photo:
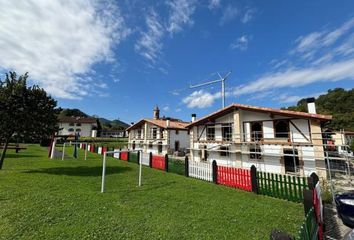
<path fill-rule="evenodd" d="M 160 118 L 156 106 L 153 119 L 142 119 L 127 128 L 128 147 L 153 154 L 186 152 L 189 148 L 188 124 L 179 119 Z"/>

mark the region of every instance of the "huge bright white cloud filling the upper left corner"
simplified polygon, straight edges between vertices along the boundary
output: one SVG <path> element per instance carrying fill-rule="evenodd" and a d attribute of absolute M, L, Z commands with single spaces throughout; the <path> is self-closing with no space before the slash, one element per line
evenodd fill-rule
<path fill-rule="evenodd" d="M 0 14 L 0 66 L 60 98 L 92 92 L 94 64 L 114 61 L 129 33 L 118 6 L 99 1 L 7 1 Z"/>

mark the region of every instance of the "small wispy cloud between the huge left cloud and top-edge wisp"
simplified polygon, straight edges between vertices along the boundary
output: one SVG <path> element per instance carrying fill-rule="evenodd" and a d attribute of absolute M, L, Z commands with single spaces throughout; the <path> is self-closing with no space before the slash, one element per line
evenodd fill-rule
<path fill-rule="evenodd" d="M 146 17 L 145 23 L 147 31 L 141 32 L 141 37 L 135 44 L 135 51 L 151 62 L 155 62 L 161 54 L 161 40 L 165 30 L 158 19 L 157 13 L 153 9 Z"/>

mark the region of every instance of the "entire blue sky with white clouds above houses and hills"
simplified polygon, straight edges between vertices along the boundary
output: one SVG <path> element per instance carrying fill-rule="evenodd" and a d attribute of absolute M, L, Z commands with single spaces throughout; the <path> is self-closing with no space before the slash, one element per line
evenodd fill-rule
<path fill-rule="evenodd" d="M 190 120 L 226 105 L 295 104 L 352 88 L 353 1 L 10 1 L 0 73 L 28 71 L 58 105 L 136 122 Z"/>

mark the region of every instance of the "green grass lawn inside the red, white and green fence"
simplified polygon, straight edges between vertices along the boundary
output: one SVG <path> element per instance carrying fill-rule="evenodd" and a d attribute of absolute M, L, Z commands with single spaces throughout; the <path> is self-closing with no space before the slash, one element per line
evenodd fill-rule
<path fill-rule="evenodd" d="M 70 152 L 68 150 L 67 152 Z M 0 239 L 269 239 L 295 234 L 303 206 L 101 156 L 49 160 L 36 145 L 0 170 Z"/>

